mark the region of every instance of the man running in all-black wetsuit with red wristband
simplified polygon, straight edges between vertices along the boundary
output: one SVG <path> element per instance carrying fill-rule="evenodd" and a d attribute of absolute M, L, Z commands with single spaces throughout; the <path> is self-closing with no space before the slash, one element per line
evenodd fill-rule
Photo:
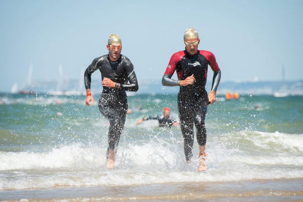
<path fill-rule="evenodd" d="M 86 105 L 93 103 L 90 93 L 91 74 L 99 70 L 102 77 L 103 92 L 98 107 L 109 120 L 109 147 L 107 150 L 107 168 L 114 168 L 115 153 L 125 124 L 127 112 L 127 96 L 125 91 L 137 91 L 138 82 L 131 61 L 121 55 L 121 39 L 117 34 L 111 34 L 108 40 L 108 55 L 95 58 L 84 73 L 86 88 Z"/>

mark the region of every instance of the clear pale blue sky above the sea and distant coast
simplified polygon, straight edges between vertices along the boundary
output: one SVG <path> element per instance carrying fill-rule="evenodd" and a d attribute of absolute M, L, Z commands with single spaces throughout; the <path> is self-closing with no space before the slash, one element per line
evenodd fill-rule
<path fill-rule="evenodd" d="M 160 83 L 170 57 L 193 27 L 222 81 L 303 79 L 303 1 L 0 0 L 0 92 L 33 80 L 79 79 L 119 34 L 139 81 Z M 100 78 L 94 73 L 92 78 Z M 209 79 L 212 72 L 209 71 Z M 85 90 L 83 86 L 83 90 Z"/>

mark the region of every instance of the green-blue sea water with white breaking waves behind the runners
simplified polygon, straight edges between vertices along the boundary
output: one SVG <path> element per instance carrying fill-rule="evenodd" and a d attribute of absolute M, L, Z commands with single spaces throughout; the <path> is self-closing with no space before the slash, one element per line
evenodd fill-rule
<path fill-rule="evenodd" d="M 180 127 L 146 115 L 164 107 L 178 119 L 177 95 L 128 97 L 115 168 L 106 169 L 109 123 L 85 96 L 0 94 L 0 191 L 78 186 L 237 182 L 303 178 L 303 96 L 218 95 L 206 118 L 208 170 L 184 158 Z"/>

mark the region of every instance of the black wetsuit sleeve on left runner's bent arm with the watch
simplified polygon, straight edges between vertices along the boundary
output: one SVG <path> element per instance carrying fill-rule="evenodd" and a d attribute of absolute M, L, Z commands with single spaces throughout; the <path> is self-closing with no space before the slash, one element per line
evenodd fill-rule
<path fill-rule="evenodd" d="M 129 80 L 129 84 L 120 84 L 120 88 L 125 91 L 138 91 L 138 80 L 134 71 L 134 66 L 128 58 L 125 60 L 125 70 Z"/>

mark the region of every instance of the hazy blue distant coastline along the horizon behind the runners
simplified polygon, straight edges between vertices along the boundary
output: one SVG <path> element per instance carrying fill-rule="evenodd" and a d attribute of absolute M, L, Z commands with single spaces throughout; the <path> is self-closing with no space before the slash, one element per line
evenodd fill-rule
<path fill-rule="evenodd" d="M 178 87 L 164 87 L 162 86 L 161 79 L 155 80 L 139 80 L 139 90 L 138 94 L 177 94 L 179 91 Z M 63 82 L 63 88 L 60 92 L 84 92 L 85 87 L 79 87 L 79 80 L 71 79 L 65 80 Z M 226 92 L 237 92 L 240 95 L 274 95 L 278 92 L 281 87 L 284 86 L 291 95 L 303 95 L 303 80 L 293 80 L 293 81 L 258 81 L 258 82 L 221 82 L 217 91 L 217 94 L 224 95 Z M 100 85 L 100 80 L 93 79 L 91 85 L 92 92 L 100 93 L 103 88 Z M 211 80 L 208 80 L 207 91 L 211 89 Z M 24 90 L 24 89 L 21 89 Z M 30 89 L 27 91 L 32 91 L 36 93 L 48 93 L 58 91 L 57 82 L 54 81 L 41 81 L 32 80 Z M 10 93 L 11 90 L 4 91 L 1 93 Z M 84 94 L 80 93 L 80 94 Z"/>

